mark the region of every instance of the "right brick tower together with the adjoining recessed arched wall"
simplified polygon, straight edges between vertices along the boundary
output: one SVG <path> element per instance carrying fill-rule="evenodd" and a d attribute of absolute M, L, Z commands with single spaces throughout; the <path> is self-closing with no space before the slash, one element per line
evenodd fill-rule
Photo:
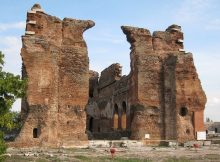
<path fill-rule="evenodd" d="M 89 102 L 93 107 L 87 105 L 93 138 L 118 134 L 118 138 L 144 139 L 149 134 L 155 140 L 195 139 L 197 131 L 204 131 L 206 96 L 192 54 L 183 50 L 181 27 L 171 25 L 152 35 L 143 28 L 122 26 L 122 30 L 131 44 L 131 71 L 120 77 L 121 67 L 113 64 L 101 73 L 98 93 Z M 121 128 L 123 105 L 127 134 Z M 92 125 L 101 129 L 91 129 Z"/>

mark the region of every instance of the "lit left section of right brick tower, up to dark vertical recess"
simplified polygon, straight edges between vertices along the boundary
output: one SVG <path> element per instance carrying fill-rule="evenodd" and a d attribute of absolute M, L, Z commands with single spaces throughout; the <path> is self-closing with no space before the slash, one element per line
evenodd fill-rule
<path fill-rule="evenodd" d="M 160 115 L 161 60 L 153 51 L 152 36 L 147 29 L 122 27 L 131 43 L 131 81 L 129 90 L 134 94 L 132 105 L 131 138 L 143 139 L 145 134 L 160 139 L 163 128 Z"/>

